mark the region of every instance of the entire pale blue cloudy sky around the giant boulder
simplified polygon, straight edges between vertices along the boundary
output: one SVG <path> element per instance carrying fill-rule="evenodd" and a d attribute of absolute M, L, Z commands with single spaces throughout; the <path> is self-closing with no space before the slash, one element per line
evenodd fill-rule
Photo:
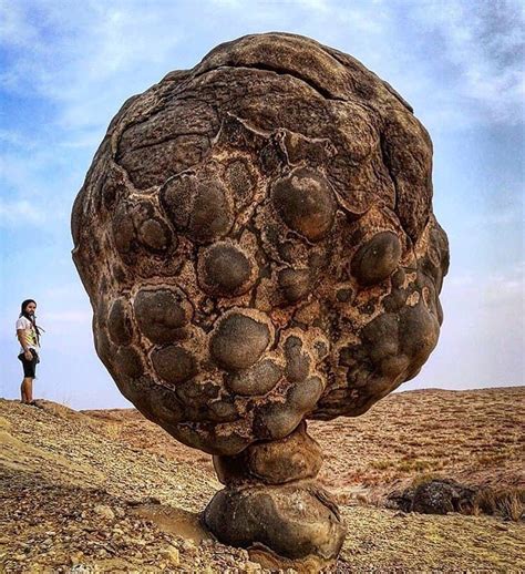
<path fill-rule="evenodd" d="M 451 242 L 441 339 L 403 389 L 524 383 L 521 0 L 0 0 L 0 396 L 21 380 L 14 320 L 47 329 L 35 394 L 126 406 L 96 358 L 70 213 L 111 117 L 171 70 L 247 33 L 309 35 L 361 60 L 434 142 L 434 211 Z"/>

